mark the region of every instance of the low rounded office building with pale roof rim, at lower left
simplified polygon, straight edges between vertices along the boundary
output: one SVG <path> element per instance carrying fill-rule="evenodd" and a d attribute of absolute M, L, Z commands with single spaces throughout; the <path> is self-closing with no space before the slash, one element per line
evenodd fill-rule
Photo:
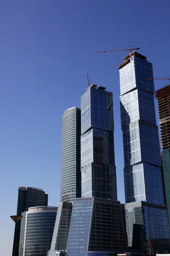
<path fill-rule="evenodd" d="M 51 247 L 57 207 L 30 207 L 26 212 L 23 256 L 47 256 Z"/>

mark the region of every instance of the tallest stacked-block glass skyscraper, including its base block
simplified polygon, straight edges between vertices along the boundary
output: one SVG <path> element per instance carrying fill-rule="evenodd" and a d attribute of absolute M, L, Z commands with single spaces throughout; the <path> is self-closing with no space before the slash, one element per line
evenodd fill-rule
<path fill-rule="evenodd" d="M 154 105 L 152 64 L 133 52 L 119 65 L 128 246 L 147 255 L 170 250 Z"/>

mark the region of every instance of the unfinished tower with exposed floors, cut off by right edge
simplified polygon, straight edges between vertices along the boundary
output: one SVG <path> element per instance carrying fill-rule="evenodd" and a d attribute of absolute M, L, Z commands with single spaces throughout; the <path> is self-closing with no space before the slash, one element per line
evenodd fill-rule
<path fill-rule="evenodd" d="M 165 189 L 165 202 L 167 204 L 170 221 L 170 84 L 156 90 L 158 101 L 159 124 L 161 128 L 162 166 Z"/>

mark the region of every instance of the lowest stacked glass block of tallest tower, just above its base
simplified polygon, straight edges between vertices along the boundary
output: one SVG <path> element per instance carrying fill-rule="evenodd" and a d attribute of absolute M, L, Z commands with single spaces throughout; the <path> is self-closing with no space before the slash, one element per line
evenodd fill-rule
<path fill-rule="evenodd" d="M 147 201 L 164 204 L 159 166 L 139 163 L 124 169 L 127 203 Z"/>

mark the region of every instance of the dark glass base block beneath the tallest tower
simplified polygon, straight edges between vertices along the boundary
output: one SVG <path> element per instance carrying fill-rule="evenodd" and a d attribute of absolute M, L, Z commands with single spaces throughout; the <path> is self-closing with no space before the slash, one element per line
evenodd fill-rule
<path fill-rule="evenodd" d="M 167 208 L 140 202 L 125 205 L 127 240 L 132 249 L 148 255 L 170 250 Z"/>

